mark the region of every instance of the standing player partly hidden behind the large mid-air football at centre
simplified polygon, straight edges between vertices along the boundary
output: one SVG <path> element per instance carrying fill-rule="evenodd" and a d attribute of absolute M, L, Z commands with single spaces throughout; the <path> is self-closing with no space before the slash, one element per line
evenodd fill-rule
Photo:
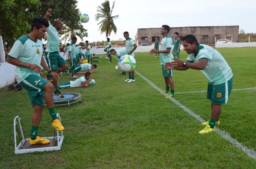
<path fill-rule="evenodd" d="M 125 43 L 125 44 L 126 44 L 126 47 L 125 47 L 126 53 L 127 53 L 128 55 L 132 55 L 133 57 L 135 57 L 134 51 L 135 51 L 135 49 L 136 49 L 138 46 L 137 46 L 136 43 L 129 37 L 128 31 L 125 31 L 125 32 L 124 32 L 124 38 L 126 39 L 126 43 Z M 130 83 L 130 82 L 135 82 L 135 79 L 134 79 L 134 70 L 131 71 L 131 72 L 129 72 L 128 74 L 129 74 L 129 77 L 128 77 L 128 79 L 125 80 L 125 82 L 128 82 L 128 83 Z"/>

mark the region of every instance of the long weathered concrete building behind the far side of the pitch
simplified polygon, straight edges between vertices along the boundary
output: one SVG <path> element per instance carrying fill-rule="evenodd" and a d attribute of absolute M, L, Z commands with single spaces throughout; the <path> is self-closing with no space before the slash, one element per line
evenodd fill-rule
<path fill-rule="evenodd" d="M 155 37 L 162 39 L 161 28 L 141 28 L 135 35 L 135 43 L 154 43 Z M 174 32 L 179 33 L 180 39 L 187 34 L 196 36 L 198 43 L 214 44 L 218 39 L 230 39 L 238 42 L 239 26 L 193 26 L 170 28 L 168 33 L 174 39 Z"/>

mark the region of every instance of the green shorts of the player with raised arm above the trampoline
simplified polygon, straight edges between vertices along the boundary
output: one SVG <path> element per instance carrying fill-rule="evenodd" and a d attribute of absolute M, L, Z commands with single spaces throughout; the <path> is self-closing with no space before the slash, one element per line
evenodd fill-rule
<path fill-rule="evenodd" d="M 58 67 L 67 64 L 59 52 L 45 52 L 46 63 L 49 69 L 58 70 Z"/>

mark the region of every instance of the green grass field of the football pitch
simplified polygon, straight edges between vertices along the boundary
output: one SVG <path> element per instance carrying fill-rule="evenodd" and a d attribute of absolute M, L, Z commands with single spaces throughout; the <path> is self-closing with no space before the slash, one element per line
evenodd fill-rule
<path fill-rule="evenodd" d="M 228 104 L 222 106 L 218 128 L 255 150 L 256 48 L 217 50 L 234 74 L 233 91 Z M 180 57 L 186 60 L 185 51 Z M 256 168 L 256 157 L 250 157 L 219 134 L 198 134 L 203 128 L 201 122 L 176 104 L 179 102 L 204 120 L 210 118 L 210 100 L 204 92 L 208 82 L 200 71 L 174 70 L 176 95 L 166 99 L 156 88 L 165 89 L 159 58 L 136 53 L 136 61 L 136 71 L 143 78 L 135 74 L 134 83 L 124 82 L 127 76 L 120 77 L 121 72 L 114 69 L 117 59 L 108 64 L 102 55 L 92 74 L 94 86 L 61 90 L 80 93 L 82 103 L 56 106 L 65 127 L 60 151 L 14 154 L 14 117 L 22 118 L 24 134 L 29 138 L 32 107 L 26 90 L 1 88 L 0 168 Z M 60 78 L 60 82 L 70 80 L 67 74 Z M 53 136 L 47 108 L 39 136 Z"/>

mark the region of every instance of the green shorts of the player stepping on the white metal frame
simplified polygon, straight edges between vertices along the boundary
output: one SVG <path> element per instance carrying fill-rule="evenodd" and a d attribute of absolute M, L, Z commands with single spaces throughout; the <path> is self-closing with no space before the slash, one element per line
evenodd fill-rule
<path fill-rule="evenodd" d="M 29 75 L 19 83 L 28 91 L 28 96 L 32 106 L 35 104 L 44 105 L 44 86 L 50 83 L 38 75 Z"/>

